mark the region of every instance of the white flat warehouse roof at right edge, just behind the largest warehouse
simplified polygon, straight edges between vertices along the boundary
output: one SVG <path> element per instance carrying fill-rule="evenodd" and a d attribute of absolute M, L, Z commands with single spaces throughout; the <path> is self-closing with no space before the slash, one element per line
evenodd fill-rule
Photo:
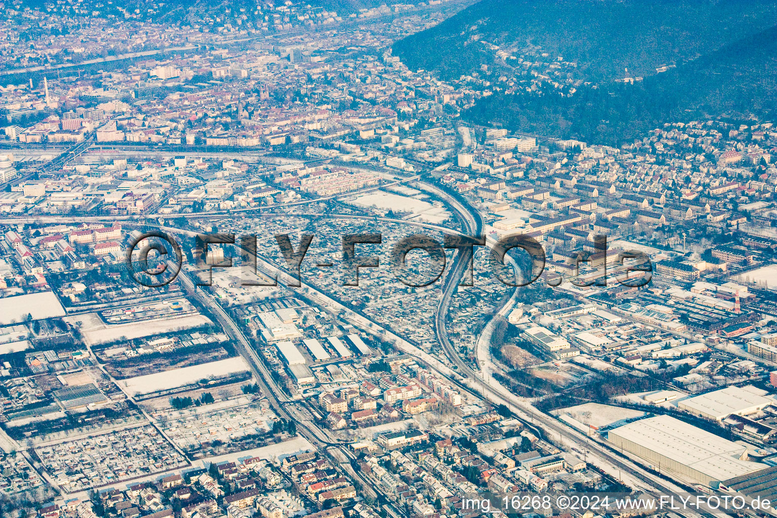
<path fill-rule="evenodd" d="M 747 387 L 726 387 L 719 391 L 684 399 L 678 403 L 679 408 L 684 408 L 695 414 L 713 419 L 726 419 L 731 414 L 747 415 L 757 412 L 761 408 L 775 403 L 772 398 L 766 398 L 766 391 Z"/>

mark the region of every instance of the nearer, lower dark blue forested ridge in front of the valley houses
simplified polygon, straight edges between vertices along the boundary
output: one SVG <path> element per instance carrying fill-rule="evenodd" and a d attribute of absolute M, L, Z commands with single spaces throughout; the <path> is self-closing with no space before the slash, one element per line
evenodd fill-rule
<path fill-rule="evenodd" d="M 562 97 L 495 94 L 462 116 L 476 123 L 621 144 L 665 122 L 755 114 L 777 118 L 777 26 L 633 85 Z"/>

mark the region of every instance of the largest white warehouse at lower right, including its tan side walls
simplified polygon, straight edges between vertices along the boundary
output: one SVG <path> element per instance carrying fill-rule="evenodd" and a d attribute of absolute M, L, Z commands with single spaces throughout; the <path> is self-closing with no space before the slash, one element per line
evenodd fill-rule
<path fill-rule="evenodd" d="M 657 471 L 671 471 L 688 481 L 716 482 L 768 468 L 750 462 L 744 445 L 733 443 L 670 415 L 639 419 L 611 429 L 608 441 L 636 454 Z"/>

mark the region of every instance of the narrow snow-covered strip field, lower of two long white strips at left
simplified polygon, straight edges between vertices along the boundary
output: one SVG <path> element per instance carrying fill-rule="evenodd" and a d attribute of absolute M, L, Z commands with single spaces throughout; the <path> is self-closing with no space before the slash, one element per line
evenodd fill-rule
<path fill-rule="evenodd" d="M 250 370 L 248 363 L 243 360 L 242 356 L 237 356 L 201 365 L 131 377 L 126 380 L 118 380 L 117 383 L 131 395 L 143 395 L 169 388 L 183 387 L 209 377 L 225 376 L 246 370 Z"/>

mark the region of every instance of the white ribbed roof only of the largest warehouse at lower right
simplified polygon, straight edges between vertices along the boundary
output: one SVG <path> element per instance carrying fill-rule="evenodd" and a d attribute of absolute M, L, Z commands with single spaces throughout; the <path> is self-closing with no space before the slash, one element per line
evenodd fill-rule
<path fill-rule="evenodd" d="M 611 429 L 609 433 L 684 464 L 713 480 L 722 481 L 767 468 L 766 464 L 740 460 L 746 449 L 744 446 L 670 415 L 639 419 Z"/>

